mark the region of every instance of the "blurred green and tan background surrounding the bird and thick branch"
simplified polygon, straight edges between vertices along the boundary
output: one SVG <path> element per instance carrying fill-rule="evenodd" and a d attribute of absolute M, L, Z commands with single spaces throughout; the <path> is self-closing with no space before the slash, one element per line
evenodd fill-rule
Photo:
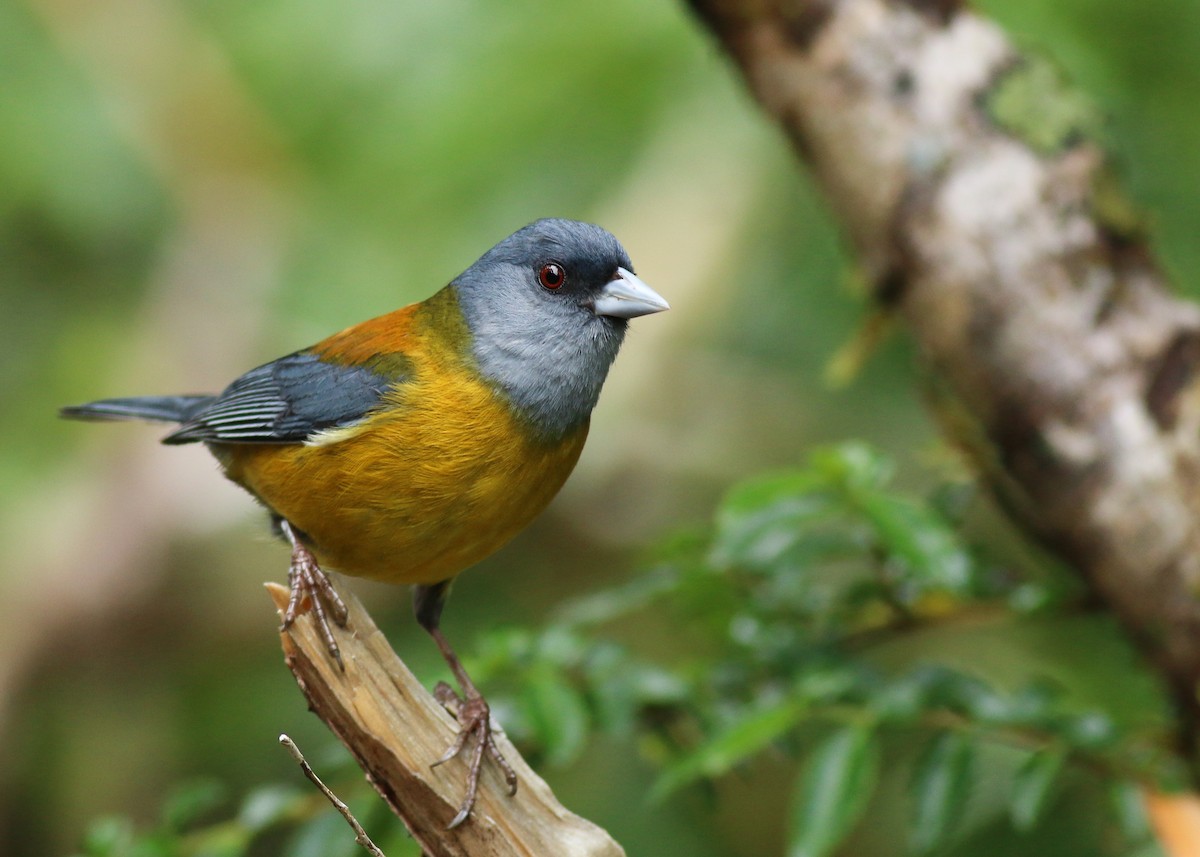
<path fill-rule="evenodd" d="M 1110 115 L 1194 292 L 1200 4 L 980 6 Z M 290 780 L 281 731 L 332 743 L 281 666 L 260 582 L 287 556 L 251 501 L 200 448 L 55 408 L 218 389 L 547 215 L 616 233 L 673 310 L 634 324 L 562 497 L 456 587 L 461 651 L 636 574 L 733 480 L 815 443 L 860 437 L 931 481 L 902 337 L 824 383 L 862 316 L 852 260 L 682 4 L 0 0 L 0 853 L 70 853 L 89 819 L 152 819 L 190 777 Z M 354 588 L 432 684 L 407 593 Z M 1010 639 L 978 637 L 1004 661 Z M 1020 642 L 1009 659 L 1078 658 L 1070 636 Z M 634 745 L 545 773 L 631 855 L 782 847 L 769 768 L 662 805 Z M 1086 815 L 1068 804 L 1048 852 L 1076 853 Z M 962 853 L 1001 853 L 976 829 Z M 886 834 L 854 847 L 890 853 Z"/>

